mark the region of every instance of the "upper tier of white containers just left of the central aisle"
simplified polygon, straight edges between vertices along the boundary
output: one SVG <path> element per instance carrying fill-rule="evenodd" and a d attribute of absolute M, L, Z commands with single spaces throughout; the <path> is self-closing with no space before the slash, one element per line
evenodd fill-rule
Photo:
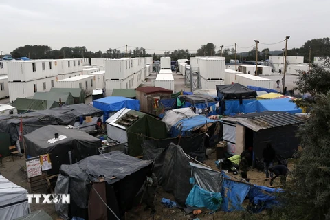
<path fill-rule="evenodd" d="M 105 61 L 106 80 L 124 80 L 146 68 L 146 58 L 120 58 Z"/>

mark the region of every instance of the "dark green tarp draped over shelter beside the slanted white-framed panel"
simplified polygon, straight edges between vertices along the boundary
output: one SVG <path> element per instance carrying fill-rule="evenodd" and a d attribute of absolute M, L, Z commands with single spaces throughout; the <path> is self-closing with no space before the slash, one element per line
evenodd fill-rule
<path fill-rule="evenodd" d="M 147 137 L 153 137 L 154 139 L 168 137 L 166 124 L 161 120 L 157 120 L 157 118 L 153 118 L 151 115 L 146 115 L 140 111 L 131 110 L 127 113 L 139 117 L 138 120 L 126 129 L 130 156 L 136 157 L 143 154 L 141 145 L 144 140 L 148 139 Z M 122 115 L 121 118 L 125 117 L 125 115 Z"/>

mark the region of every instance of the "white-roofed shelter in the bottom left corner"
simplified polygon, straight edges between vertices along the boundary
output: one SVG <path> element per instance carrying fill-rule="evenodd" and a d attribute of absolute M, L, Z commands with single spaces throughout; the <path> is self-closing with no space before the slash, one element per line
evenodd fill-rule
<path fill-rule="evenodd" d="M 28 190 L 12 183 L 0 175 L 0 213 L 1 219 L 17 219 L 30 213 L 27 199 Z"/>

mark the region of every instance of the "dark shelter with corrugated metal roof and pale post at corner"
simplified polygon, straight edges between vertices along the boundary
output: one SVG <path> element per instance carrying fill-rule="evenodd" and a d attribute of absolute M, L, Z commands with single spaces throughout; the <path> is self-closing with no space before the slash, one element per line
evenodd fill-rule
<path fill-rule="evenodd" d="M 267 143 L 283 157 L 292 157 L 298 150 L 296 131 L 303 120 L 296 115 L 265 111 L 222 120 L 223 140 L 232 155 L 240 155 L 252 146 L 254 158 L 261 159 Z"/>

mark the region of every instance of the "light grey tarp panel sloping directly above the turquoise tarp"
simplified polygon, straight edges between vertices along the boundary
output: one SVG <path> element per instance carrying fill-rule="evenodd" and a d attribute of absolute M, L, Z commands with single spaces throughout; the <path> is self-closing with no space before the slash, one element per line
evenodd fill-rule
<path fill-rule="evenodd" d="M 195 178 L 195 184 L 210 192 L 221 192 L 223 175 L 219 171 L 192 162 L 190 162 L 190 166 L 192 168 L 192 177 Z"/>

